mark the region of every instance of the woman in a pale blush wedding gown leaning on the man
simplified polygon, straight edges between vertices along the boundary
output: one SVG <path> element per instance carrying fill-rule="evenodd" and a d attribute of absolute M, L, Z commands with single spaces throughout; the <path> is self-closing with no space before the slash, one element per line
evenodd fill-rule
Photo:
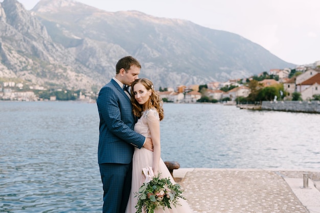
<path fill-rule="evenodd" d="M 132 186 L 129 201 L 126 208 L 126 213 L 136 212 L 136 202 L 138 197 L 135 197 L 135 192 L 139 191 L 140 186 L 143 184 L 145 177 L 142 175 L 142 169 L 152 167 L 153 173 L 157 176 L 161 173 L 160 178 L 170 178 L 174 184 L 173 177 L 171 176 L 166 164 L 161 158 L 160 146 L 160 121 L 164 118 L 164 110 L 162 107 L 162 100 L 155 92 L 153 83 L 146 78 L 137 79 L 131 85 L 131 103 L 133 105 L 133 113 L 136 117 L 140 117 L 134 126 L 134 131 L 151 137 L 153 143 L 153 152 L 145 148 L 134 148 L 132 159 Z M 172 206 L 172 209 L 162 208 L 156 209 L 155 212 L 166 213 L 188 213 L 192 212 L 188 203 L 179 199 L 180 206 Z"/>

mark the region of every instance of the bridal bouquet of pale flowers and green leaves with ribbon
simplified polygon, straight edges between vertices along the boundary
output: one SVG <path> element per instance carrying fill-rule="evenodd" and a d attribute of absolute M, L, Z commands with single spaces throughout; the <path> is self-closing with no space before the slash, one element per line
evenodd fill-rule
<path fill-rule="evenodd" d="M 152 168 L 151 173 L 153 176 Z M 171 205 L 174 207 L 180 205 L 178 198 L 186 200 L 182 196 L 183 191 L 179 184 L 172 184 L 169 178 L 161 179 L 160 174 L 151 178 L 149 173 L 145 175 L 147 177 L 146 181 L 139 188 L 139 192 L 135 193 L 138 196 L 138 202 L 135 205 L 136 213 L 142 213 L 143 209 L 146 213 L 154 213 L 156 208 L 165 209 L 165 207 L 171 208 Z"/>

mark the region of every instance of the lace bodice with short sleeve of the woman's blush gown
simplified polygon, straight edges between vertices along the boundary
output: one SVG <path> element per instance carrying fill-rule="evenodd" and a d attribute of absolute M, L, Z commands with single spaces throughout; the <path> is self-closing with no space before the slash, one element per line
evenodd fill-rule
<path fill-rule="evenodd" d="M 151 137 L 147 120 L 151 122 L 160 122 L 159 114 L 156 109 L 147 109 L 146 111 L 143 111 L 140 119 L 134 125 L 134 131 L 145 137 Z"/>

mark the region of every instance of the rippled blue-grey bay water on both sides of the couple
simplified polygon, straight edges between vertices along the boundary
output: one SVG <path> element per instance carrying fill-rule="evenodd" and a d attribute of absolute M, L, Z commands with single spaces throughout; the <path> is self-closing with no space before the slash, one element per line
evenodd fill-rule
<path fill-rule="evenodd" d="M 320 115 L 165 104 L 162 158 L 181 168 L 320 170 Z M 0 102 L 0 212 L 101 212 L 96 104 Z"/>

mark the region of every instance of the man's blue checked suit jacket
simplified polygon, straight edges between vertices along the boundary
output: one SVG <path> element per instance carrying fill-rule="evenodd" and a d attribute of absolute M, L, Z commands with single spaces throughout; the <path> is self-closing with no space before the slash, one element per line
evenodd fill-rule
<path fill-rule="evenodd" d="M 99 92 L 100 117 L 98 163 L 130 163 L 134 147 L 141 148 L 145 137 L 134 132 L 135 116 L 123 88 L 113 79 Z"/>

